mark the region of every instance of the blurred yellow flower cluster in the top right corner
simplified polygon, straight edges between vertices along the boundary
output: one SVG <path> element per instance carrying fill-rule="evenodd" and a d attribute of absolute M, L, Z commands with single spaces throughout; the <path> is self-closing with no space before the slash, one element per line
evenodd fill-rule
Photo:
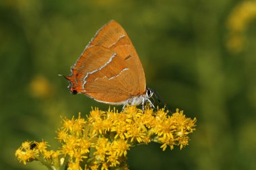
<path fill-rule="evenodd" d="M 230 52 L 241 52 L 245 44 L 245 30 L 249 23 L 256 19 L 256 1 L 243 1 L 236 5 L 228 17 L 228 41 Z"/>

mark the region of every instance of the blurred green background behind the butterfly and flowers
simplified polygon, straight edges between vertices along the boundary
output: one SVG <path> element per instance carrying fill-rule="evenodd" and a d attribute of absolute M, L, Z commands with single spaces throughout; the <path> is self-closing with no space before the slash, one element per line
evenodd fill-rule
<path fill-rule="evenodd" d="M 189 146 L 129 151 L 130 169 L 256 169 L 256 1 L 0 2 L 0 169 L 25 140 L 57 148 L 60 116 L 108 105 L 71 95 L 70 67 L 110 19 L 129 34 L 152 87 L 196 117 Z"/>

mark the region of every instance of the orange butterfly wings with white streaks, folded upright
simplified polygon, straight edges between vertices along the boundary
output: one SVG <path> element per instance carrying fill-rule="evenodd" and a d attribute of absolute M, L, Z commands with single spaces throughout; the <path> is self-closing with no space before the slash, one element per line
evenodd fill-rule
<path fill-rule="evenodd" d="M 105 103 L 122 103 L 146 91 L 139 56 L 115 21 L 103 26 L 71 67 L 69 90 Z"/>

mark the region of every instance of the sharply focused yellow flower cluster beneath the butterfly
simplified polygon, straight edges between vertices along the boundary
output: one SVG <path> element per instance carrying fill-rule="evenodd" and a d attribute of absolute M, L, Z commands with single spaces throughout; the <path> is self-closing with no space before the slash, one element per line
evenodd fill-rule
<path fill-rule="evenodd" d="M 123 112 L 106 112 L 92 109 L 85 120 L 79 114 L 69 120 L 63 118 L 63 125 L 57 131 L 61 143 L 59 151 L 46 151 L 48 144 L 24 142 L 15 153 L 24 164 L 40 161 L 50 169 L 59 169 L 67 164 L 67 169 L 128 169 L 127 151 L 131 146 L 158 142 L 164 151 L 174 145 L 186 146 L 187 136 L 195 130 L 196 119 L 186 118 L 177 110 L 172 116 L 164 109 L 156 112 L 146 106 L 143 113 L 136 106 L 127 106 Z"/>

